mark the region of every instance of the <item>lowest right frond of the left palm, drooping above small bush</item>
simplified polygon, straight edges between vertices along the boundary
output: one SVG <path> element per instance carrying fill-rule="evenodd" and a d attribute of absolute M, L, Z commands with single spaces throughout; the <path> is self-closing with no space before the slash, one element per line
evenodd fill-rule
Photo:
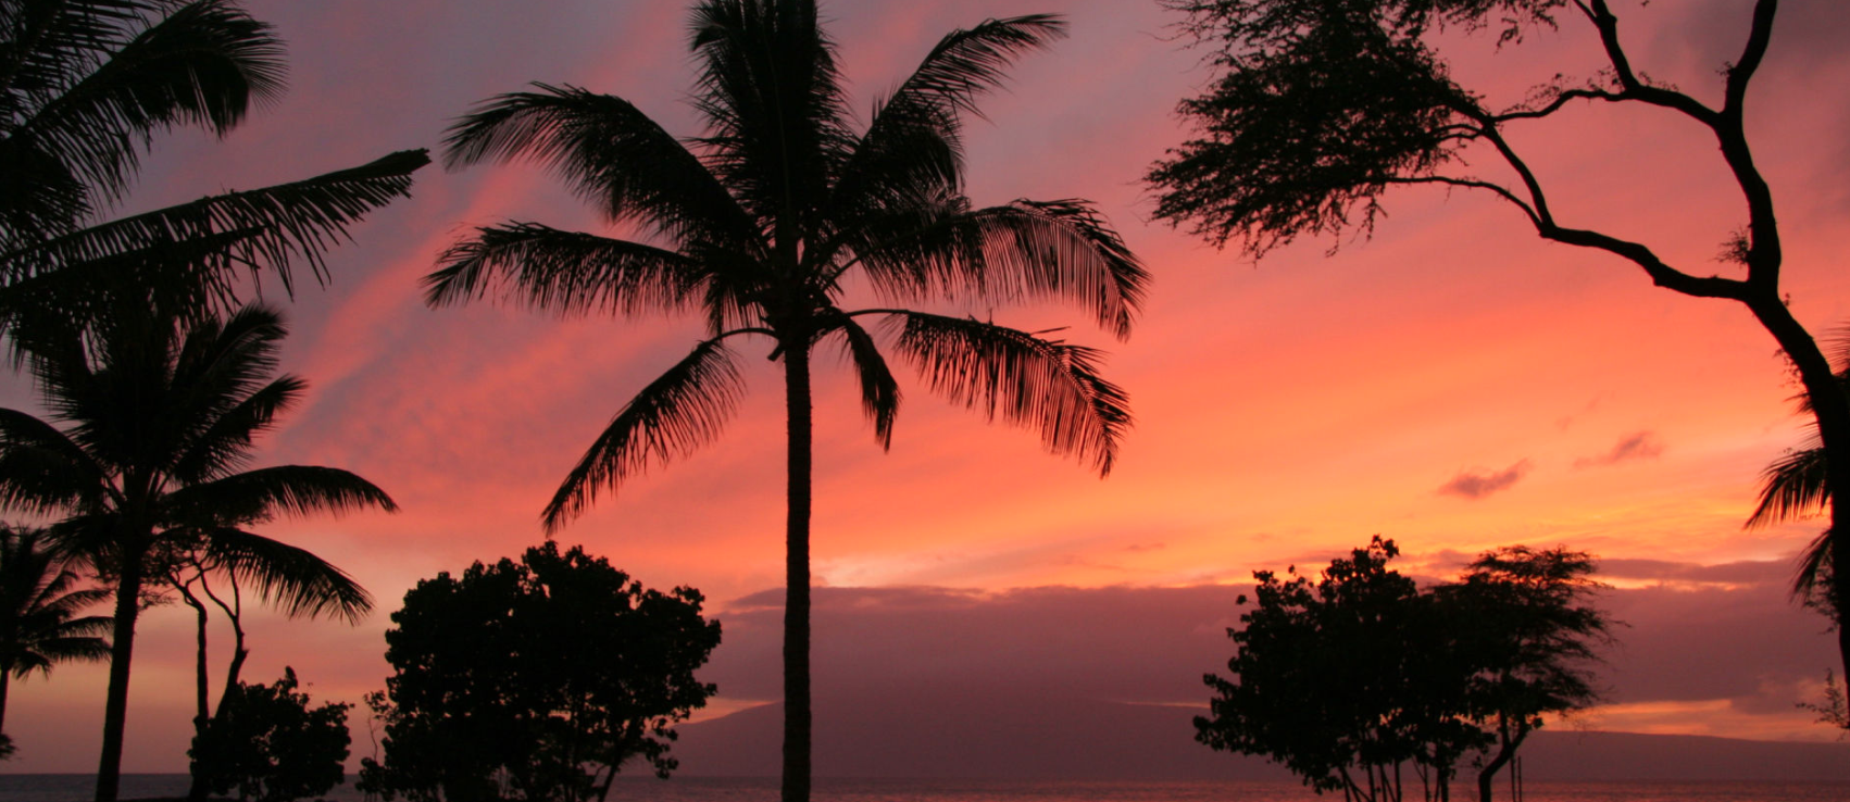
<path fill-rule="evenodd" d="M 359 623 L 372 597 L 353 577 L 313 553 L 233 527 L 209 532 L 209 554 L 237 582 L 253 582 L 265 601 L 289 615 L 337 615 Z"/>

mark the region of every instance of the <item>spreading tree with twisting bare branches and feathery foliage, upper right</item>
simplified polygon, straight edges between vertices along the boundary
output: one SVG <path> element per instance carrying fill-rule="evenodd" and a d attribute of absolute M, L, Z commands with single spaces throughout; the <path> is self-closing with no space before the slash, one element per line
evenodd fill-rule
<path fill-rule="evenodd" d="M 1652 81 L 1628 55 L 1608 0 L 1166 0 L 1186 13 L 1182 30 L 1215 48 L 1219 78 L 1182 116 L 1199 135 L 1158 161 L 1147 179 L 1160 192 L 1156 216 L 1188 224 L 1217 244 L 1238 240 L 1249 255 L 1301 235 L 1371 231 L 1389 187 L 1437 185 L 1489 192 L 1515 207 L 1547 240 L 1593 248 L 1639 268 L 1654 285 L 1695 298 L 1722 298 L 1746 310 L 1793 362 L 1817 418 L 1833 497 L 1850 488 L 1850 395 L 1817 340 L 1787 309 L 1780 288 L 1785 257 L 1774 196 L 1748 144 L 1745 105 L 1772 35 L 1776 0 L 1756 0 L 1741 55 L 1720 68 L 1722 103 Z M 1600 37 L 1608 67 L 1587 83 L 1558 79 L 1528 100 L 1495 111 L 1452 81 L 1428 33 L 1497 26 L 1500 43 L 1580 18 Z M 1565 225 L 1545 181 L 1508 131 L 1547 120 L 1580 102 L 1671 111 L 1713 135 L 1748 224 L 1726 237 L 1722 255 L 1745 277 L 1696 275 L 1650 246 Z M 1508 166 L 1511 181 L 1465 172 L 1465 155 Z M 1850 510 L 1832 504 L 1830 567 L 1850 554 Z M 1811 554 L 1822 554 L 1811 549 Z M 1832 586 L 1833 606 L 1850 606 L 1850 584 Z M 1837 630 L 1850 665 L 1850 630 Z"/>

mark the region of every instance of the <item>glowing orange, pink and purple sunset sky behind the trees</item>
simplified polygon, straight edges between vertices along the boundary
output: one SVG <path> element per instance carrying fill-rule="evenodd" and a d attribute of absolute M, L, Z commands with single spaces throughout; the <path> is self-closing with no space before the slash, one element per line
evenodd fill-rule
<path fill-rule="evenodd" d="M 1615 6 L 1635 65 L 1717 102 L 1748 0 Z M 618 94 L 672 133 L 699 133 L 679 0 L 248 7 L 289 43 L 289 94 L 222 140 L 161 137 L 122 213 L 435 152 L 470 103 L 529 81 Z M 1154 283 L 1125 344 L 1073 309 L 993 310 L 1023 327 L 1073 323 L 1064 336 L 1110 351 L 1136 429 L 1104 480 L 910 377 L 882 453 L 849 375 L 820 358 L 814 571 L 818 584 L 868 589 L 821 604 L 875 634 L 851 649 L 831 643 L 847 625 L 818 626 L 818 693 L 831 673 L 879 686 L 897 656 L 929 647 L 936 662 L 906 671 L 1204 704 L 1199 676 L 1230 654 L 1223 630 L 1238 615 L 1212 586 L 1323 565 L 1378 532 L 1400 543 L 1402 571 L 1428 578 L 1497 545 L 1598 554 L 1619 588 L 1608 606 L 1632 626 L 1602 674 L 1611 704 L 1585 726 L 1832 737 L 1793 708 L 1819 697 L 1832 639 L 1822 617 L 1783 599 L 1791 556 L 1819 523 L 1741 527 L 1759 469 L 1804 436 L 1796 384 L 1745 309 L 1654 288 L 1615 257 L 1539 240 L 1508 205 L 1436 188 L 1391 192 L 1373 238 L 1304 240 L 1254 264 L 1151 218 L 1141 176 L 1186 137 L 1177 102 L 1210 79 L 1204 52 L 1182 48 L 1177 17 L 1154 0 L 823 7 L 862 113 L 953 28 L 1066 15 L 1071 37 L 1023 59 L 982 103 L 988 120 L 971 120 L 969 194 L 1090 198 Z M 1820 334 L 1850 323 L 1844 41 L 1837 0 L 1782 4 L 1748 105 L 1780 203 L 1791 307 Z M 1454 76 L 1493 105 L 1602 67 L 1595 33 L 1565 17 L 1558 33 L 1502 52 L 1495 35 L 1452 31 L 1447 46 Z M 1578 107 L 1511 137 L 1563 222 L 1643 240 L 1685 272 L 1733 270 L 1715 257 L 1745 209 L 1693 124 Z M 348 468 L 403 512 L 268 530 L 348 569 L 377 608 L 359 626 L 261 617 L 250 682 L 292 665 L 316 699 L 359 702 L 383 687 L 381 634 L 405 589 L 538 543 L 538 512 L 566 469 L 701 333 L 692 318 L 431 310 L 418 279 L 466 227 L 603 224 L 531 168 L 433 164 L 413 194 L 331 253 L 327 286 L 305 283 L 289 299 L 266 285 L 292 323 L 285 370 L 309 395 L 261 444 L 259 464 Z M 559 534 L 649 586 L 707 595 L 725 625 L 707 717 L 777 697 L 775 649 L 760 649 L 775 643 L 775 617 L 753 595 L 783 582 L 779 368 L 747 362 L 753 394 L 714 445 L 601 497 Z M 0 401 L 31 408 L 24 377 L 0 383 Z M 927 638 L 918 615 L 956 636 Z M 183 606 L 142 617 L 124 771 L 185 771 L 191 626 Z M 229 636 L 215 638 L 222 662 Z M 6 771 L 94 771 L 104 680 L 102 665 L 67 665 L 15 684 L 6 724 L 22 748 Z M 363 713 L 355 758 L 372 754 Z"/>

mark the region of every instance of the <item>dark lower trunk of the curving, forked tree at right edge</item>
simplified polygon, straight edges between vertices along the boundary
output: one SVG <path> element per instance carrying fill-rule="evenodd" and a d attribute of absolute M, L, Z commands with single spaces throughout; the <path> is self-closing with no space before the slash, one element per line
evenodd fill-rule
<path fill-rule="evenodd" d="M 1839 621 L 1850 619 L 1850 394 L 1832 371 L 1830 358 L 1817 340 L 1793 318 L 1793 310 L 1778 298 L 1748 303 L 1754 316 L 1772 334 L 1798 370 L 1798 381 L 1819 419 L 1819 442 L 1824 445 L 1824 486 L 1832 499 L 1832 610 Z M 1837 658 L 1850 676 L 1850 626 L 1837 626 Z"/>

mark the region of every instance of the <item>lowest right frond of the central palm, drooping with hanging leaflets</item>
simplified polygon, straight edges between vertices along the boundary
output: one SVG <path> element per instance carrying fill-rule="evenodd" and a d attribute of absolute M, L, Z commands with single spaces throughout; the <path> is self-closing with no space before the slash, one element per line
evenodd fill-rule
<path fill-rule="evenodd" d="M 968 318 L 894 312 L 888 322 L 932 390 L 1038 431 L 1049 451 L 1090 458 L 1101 477 L 1112 471 L 1130 408 L 1099 375 L 1099 351 Z"/>

